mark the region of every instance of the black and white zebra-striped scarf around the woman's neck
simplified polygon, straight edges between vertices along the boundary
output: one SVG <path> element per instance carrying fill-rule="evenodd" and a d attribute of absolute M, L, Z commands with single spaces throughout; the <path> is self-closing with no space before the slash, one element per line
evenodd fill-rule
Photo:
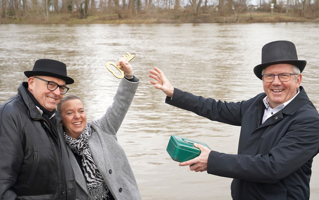
<path fill-rule="evenodd" d="M 106 200 L 109 190 L 88 148 L 88 140 L 91 136 L 91 125 L 86 123 L 78 139 L 72 138 L 65 131 L 63 132 L 66 144 L 71 150 L 82 156 L 82 168 L 89 190 L 89 200 Z"/>

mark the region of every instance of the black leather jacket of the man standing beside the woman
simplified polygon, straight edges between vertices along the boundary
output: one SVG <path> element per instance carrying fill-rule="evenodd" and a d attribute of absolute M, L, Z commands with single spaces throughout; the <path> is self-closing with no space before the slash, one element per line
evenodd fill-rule
<path fill-rule="evenodd" d="M 61 116 L 52 118 L 54 136 L 26 90 L 24 82 L 0 105 L 0 199 L 75 200 Z"/>

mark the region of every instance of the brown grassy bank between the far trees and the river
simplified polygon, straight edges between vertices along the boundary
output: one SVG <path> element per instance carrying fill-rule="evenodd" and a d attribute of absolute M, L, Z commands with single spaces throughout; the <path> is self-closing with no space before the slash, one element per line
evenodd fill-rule
<path fill-rule="evenodd" d="M 299 17 L 286 13 L 246 12 L 220 17 L 212 13 L 192 16 L 185 12 L 165 12 L 151 14 L 136 14 L 130 17 L 121 17 L 117 14 L 94 14 L 85 19 L 77 15 L 50 14 L 49 20 L 43 15 L 8 17 L 1 19 L 1 24 L 160 24 L 160 23 L 279 23 L 279 22 L 319 22 L 319 18 L 306 16 Z"/>

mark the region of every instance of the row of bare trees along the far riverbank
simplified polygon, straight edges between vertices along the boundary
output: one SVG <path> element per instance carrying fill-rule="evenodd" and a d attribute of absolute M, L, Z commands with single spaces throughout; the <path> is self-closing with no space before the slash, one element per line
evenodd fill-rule
<path fill-rule="evenodd" d="M 273 7 L 271 4 L 273 3 Z M 319 0 L 0 0 L 2 19 L 43 15 L 49 20 L 51 13 L 77 15 L 80 19 L 96 13 L 117 14 L 118 18 L 159 11 L 187 12 L 192 16 L 211 13 L 227 16 L 247 11 L 297 14 L 300 17 L 318 16 Z"/>

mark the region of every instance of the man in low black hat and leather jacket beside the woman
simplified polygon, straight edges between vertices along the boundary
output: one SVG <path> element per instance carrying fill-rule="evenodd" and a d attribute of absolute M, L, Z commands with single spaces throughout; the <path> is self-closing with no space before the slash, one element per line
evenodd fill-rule
<path fill-rule="evenodd" d="M 75 200 L 75 176 L 55 106 L 74 80 L 37 60 L 18 94 L 0 104 L 0 199 Z"/>

